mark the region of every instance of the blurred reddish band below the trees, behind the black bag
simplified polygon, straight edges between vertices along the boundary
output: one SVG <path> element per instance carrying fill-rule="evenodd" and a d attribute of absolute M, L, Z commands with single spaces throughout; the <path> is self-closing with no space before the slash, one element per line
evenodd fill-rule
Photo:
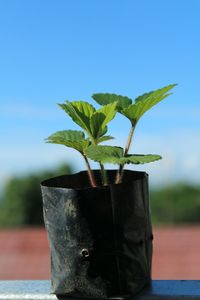
<path fill-rule="evenodd" d="M 44 229 L 0 230 L 0 279 L 49 278 Z M 154 229 L 153 278 L 200 278 L 200 226 Z"/>

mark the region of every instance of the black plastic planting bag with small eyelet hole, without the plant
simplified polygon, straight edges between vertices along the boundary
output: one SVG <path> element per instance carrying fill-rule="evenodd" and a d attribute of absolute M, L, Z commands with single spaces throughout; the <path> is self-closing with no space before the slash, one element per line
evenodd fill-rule
<path fill-rule="evenodd" d="M 115 175 L 108 171 L 109 186 L 97 188 L 85 171 L 42 182 L 52 293 L 129 297 L 150 283 L 148 175 L 125 171 L 114 184 Z"/>

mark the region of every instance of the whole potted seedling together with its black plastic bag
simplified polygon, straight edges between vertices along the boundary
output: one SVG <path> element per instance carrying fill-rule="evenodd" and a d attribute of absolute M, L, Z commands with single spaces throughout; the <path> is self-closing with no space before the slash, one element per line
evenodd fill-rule
<path fill-rule="evenodd" d="M 125 170 L 126 164 L 159 160 L 155 154 L 129 154 L 134 130 L 152 106 L 170 95 L 175 84 L 132 99 L 94 94 L 101 106 L 66 101 L 59 106 L 82 128 L 58 131 L 48 143 L 74 148 L 87 171 L 41 183 L 44 221 L 51 250 L 52 293 L 73 297 L 129 297 L 151 281 L 152 226 L 148 174 Z M 129 119 L 125 148 L 99 145 L 113 137 L 107 125 L 116 113 Z M 92 170 L 89 160 L 99 163 Z M 118 165 L 106 170 L 105 164 Z"/>

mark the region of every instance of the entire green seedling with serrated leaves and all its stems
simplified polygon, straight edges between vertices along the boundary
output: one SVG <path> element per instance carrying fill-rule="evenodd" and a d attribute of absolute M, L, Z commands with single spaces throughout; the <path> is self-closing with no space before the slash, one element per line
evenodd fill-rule
<path fill-rule="evenodd" d="M 137 97 L 135 101 L 116 94 L 94 94 L 92 98 L 98 104 L 102 105 L 100 109 L 95 109 L 85 101 L 66 101 L 63 104 L 59 104 L 83 131 L 58 131 L 49 136 L 46 142 L 62 144 L 77 150 L 85 160 L 92 187 L 96 187 L 97 183 L 88 158 L 99 162 L 103 185 L 108 185 L 104 164 L 112 163 L 119 165 L 115 181 L 116 184 L 119 184 L 123 180 L 125 164 L 144 164 L 161 159 L 161 156 L 157 154 L 129 154 L 129 149 L 139 119 L 151 107 L 171 95 L 169 91 L 175 86 L 176 84 L 172 84 L 151 91 Z M 114 119 L 117 112 L 121 113 L 131 122 L 131 130 L 124 149 L 116 146 L 99 145 L 102 142 L 113 139 L 112 136 L 106 135 L 108 130 L 107 125 Z"/>

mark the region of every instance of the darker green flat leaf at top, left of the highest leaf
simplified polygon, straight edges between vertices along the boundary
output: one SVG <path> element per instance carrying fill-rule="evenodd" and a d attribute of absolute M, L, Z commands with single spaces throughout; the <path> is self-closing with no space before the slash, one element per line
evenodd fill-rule
<path fill-rule="evenodd" d="M 100 105 L 106 105 L 109 103 L 117 102 L 117 110 L 119 112 L 132 103 L 132 100 L 126 96 L 109 93 L 93 94 L 92 98 Z"/>

